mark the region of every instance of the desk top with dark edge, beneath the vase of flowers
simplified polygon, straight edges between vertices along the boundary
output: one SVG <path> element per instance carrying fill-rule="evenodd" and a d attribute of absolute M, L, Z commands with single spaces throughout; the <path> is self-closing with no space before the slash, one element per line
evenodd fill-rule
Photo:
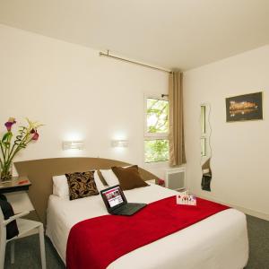
<path fill-rule="evenodd" d="M 11 181 L 0 182 L 0 194 L 29 190 L 30 185 L 27 177 L 13 177 Z"/>

